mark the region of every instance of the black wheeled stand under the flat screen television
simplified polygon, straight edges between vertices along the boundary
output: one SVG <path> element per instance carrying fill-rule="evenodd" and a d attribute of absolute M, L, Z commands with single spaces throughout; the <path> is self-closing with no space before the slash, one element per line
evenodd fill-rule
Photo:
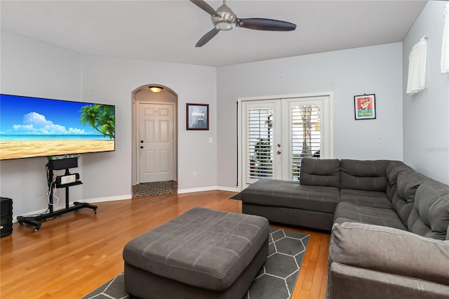
<path fill-rule="evenodd" d="M 91 208 L 93 209 L 93 213 L 97 213 L 98 206 L 93 204 L 88 204 L 85 202 L 74 201 L 74 205 L 70 206 L 69 204 L 69 187 L 73 187 L 76 185 L 81 185 L 83 182 L 81 180 L 75 180 L 74 182 L 68 182 L 66 184 L 61 184 L 60 182 L 56 182 L 54 178 L 53 170 L 62 170 L 65 169 L 65 175 L 70 175 L 69 168 L 78 167 L 78 158 L 70 157 L 66 159 L 58 159 L 58 160 L 49 160 L 47 166 L 47 181 L 48 181 L 48 190 L 50 194 L 48 194 L 48 213 L 42 213 L 41 215 L 22 215 L 18 216 L 17 220 L 22 225 L 23 223 L 27 223 L 29 225 L 34 226 L 34 232 L 38 232 L 39 228 L 41 228 L 41 222 L 55 218 L 59 215 L 77 211 L 81 208 Z M 64 168 L 61 168 L 64 167 Z M 67 167 L 67 168 L 65 168 Z M 53 190 L 56 188 L 65 188 L 65 208 L 62 208 L 58 211 L 53 211 Z"/>

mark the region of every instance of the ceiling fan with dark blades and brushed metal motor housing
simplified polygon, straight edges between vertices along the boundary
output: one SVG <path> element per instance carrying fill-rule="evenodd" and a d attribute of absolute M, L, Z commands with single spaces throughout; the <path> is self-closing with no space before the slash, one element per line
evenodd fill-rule
<path fill-rule="evenodd" d="M 203 0 L 190 0 L 193 4 L 206 11 L 212 18 L 214 29 L 204 34 L 201 39 L 196 43 L 196 47 L 204 46 L 210 39 L 213 39 L 220 30 L 231 30 L 234 27 L 242 27 L 255 30 L 267 30 L 267 31 L 292 31 L 295 30 L 296 25 L 290 22 L 262 19 L 262 18 L 249 18 L 239 19 L 232 12 L 231 8 L 226 5 L 226 0 L 223 0 L 223 5 L 215 9 L 212 8 Z"/>

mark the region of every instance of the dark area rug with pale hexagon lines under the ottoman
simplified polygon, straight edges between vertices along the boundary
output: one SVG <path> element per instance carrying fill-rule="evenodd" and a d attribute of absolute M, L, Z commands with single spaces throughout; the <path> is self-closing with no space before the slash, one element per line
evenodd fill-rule
<path fill-rule="evenodd" d="M 309 239 L 309 234 L 270 227 L 267 260 L 243 299 L 290 298 Z M 83 299 L 93 298 L 129 298 L 125 292 L 123 273 L 83 297 Z"/>

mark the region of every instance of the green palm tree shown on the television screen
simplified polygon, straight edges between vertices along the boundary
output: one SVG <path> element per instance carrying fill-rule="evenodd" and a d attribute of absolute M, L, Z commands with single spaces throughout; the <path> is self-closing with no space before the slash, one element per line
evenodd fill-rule
<path fill-rule="evenodd" d="M 96 131 L 109 139 L 115 138 L 115 114 L 114 108 L 109 105 L 86 105 L 81 107 L 79 120 L 86 126 L 91 125 Z"/>

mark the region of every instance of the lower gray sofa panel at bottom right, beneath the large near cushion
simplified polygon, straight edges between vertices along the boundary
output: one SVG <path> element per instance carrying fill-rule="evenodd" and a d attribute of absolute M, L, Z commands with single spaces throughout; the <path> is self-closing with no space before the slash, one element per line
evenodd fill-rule
<path fill-rule="evenodd" d="M 449 298 L 449 286 L 395 274 L 332 263 L 328 299 Z"/>

